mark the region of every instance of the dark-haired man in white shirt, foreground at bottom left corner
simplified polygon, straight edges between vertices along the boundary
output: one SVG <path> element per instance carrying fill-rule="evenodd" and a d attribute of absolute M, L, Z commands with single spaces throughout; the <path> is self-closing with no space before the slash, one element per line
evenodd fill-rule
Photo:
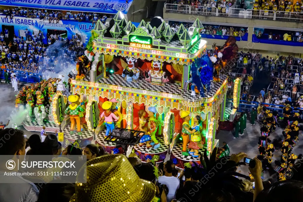
<path fill-rule="evenodd" d="M 14 135 L 11 135 L 10 138 L 5 138 L 7 134 Z M 13 128 L 6 128 L 0 131 L 0 138 L 5 139 L 5 144 L 0 147 L 2 162 L 7 162 L 8 160 L 17 162 L 20 155 L 25 155 L 25 137 L 23 135 L 23 131 Z M 5 158 L 4 155 L 10 155 L 11 158 L 3 159 Z M 4 175 L 5 173 L 9 175 Z M 17 175 L 17 173 L 17 166 L 8 170 L 5 163 L 0 164 L 0 201 L 37 201 L 39 190 L 36 185 Z"/>

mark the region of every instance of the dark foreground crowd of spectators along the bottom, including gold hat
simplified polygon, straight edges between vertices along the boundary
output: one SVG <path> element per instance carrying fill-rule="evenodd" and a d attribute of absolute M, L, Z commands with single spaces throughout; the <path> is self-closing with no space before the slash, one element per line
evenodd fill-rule
<path fill-rule="evenodd" d="M 56 179 L 52 177 L 37 176 L 9 176 L 15 184 L 0 184 L 0 198 L 3 202 L 10 201 L 205 201 L 205 202 L 285 202 L 302 201 L 302 168 L 301 159 L 297 159 L 290 178 L 278 181 L 278 174 L 272 167 L 263 167 L 262 158 L 254 158 L 255 166 L 249 166 L 251 176 L 237 172 L 239 166 L 245 166 L 242 159 L 247 154 L 240 152 L 230 157 L 217 155 L 215 148 L 211 157 L 206 153 L 201 155 L 203 167 L 194 164 L 191 167 L 178 171 L 173 161 L 155 164 L 154 162 L 141 162 L 139 157 L 126 157 L 123 154 L 108 154 L 102 146 L 87 145 L 84 149 L 67 145 L 62 148 L 60 142 L 53 134 L 48 134 L 44 142 L 39 135 L 34 134 L 28 139 L 22 131 L 7 128 L 0 131 L 0 138 L 13 133 L 5 144 L 0 147 L 0 155 L 11 155 L 10 160 L 18 159 L 20 155 L 44 155 L 74 159 L 75 155 L 86 155 L 86 173 L 78 172 L 78 178 L 85 177 L 87 183 L 67 183 L 65 176 Z M 225 144 L 226 145 L 226 144 Z M 226 148 L 222 147 L 223 150 Z M 67 155 L 62 156 L 61 155 Z M 261 159 L 261 161 L 259 160 Z M 65 160 L 65 161 L 66 161 Z M 266 159 L 265 159 L 266 160 Z M 266 160 L 267 161 L 267 160 Z M 36 172 L 46 172 L 49 168 L 33 168 Z M 267 171 L 266 177 L 262 169 Z M 61 169 L 60 169 L 61 171 Z M 5 165 L 0 166 L 0 178 L 4 178 L 8 171 Z M 179 173 L 180 172 L 180 173 Z M 80 176 L 83 175 L 83 176 Z M 211 177 L 210 177 L 211 176 Z M 263 177 L 261 177 L 263 176 Z M 264 180 L 262 180 L 264 178 Z M 38 180 L 39 183 L 31 181 Z M 55 184 L 60 183 L 60 184 Z M 88 188 L 89 187 L 89 188 Z M 112 189 L 115 187 L 115 190 Z M 291 193 L 291 194 L 285 194 Z M 28 194 L 30 193 L 30 194 Z M 54 194 L 55 193 L 55 194 Z M 118 195 L 117 195 L 118 194 Z M 285 197 L 284 197 L 285 196 Z M 134 198 L 136 200 L 134 200 Z"/>

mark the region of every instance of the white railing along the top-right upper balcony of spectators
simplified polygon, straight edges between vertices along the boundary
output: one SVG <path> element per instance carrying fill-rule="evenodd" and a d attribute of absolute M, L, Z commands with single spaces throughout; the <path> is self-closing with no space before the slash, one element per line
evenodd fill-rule
<path fill-rule="evenodd" d="M 165 12 L 220 16 L 231 18 L 266 19 L 279 21 L 303 22 L 303 15 L 298 12 L 252 10 L 241 8 L 216 8 L 208 6 L 190 6 L 180 4 L 165 4 Z"/>

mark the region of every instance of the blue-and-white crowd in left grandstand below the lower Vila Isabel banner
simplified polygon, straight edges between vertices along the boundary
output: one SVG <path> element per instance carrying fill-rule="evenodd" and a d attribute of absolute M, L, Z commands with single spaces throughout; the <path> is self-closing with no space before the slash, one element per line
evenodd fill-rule
<path fill-rule="evenodd" d="M 6 31 L 6 29 L 5 29 Z M 2 37 L 0 33 L 0 66 L 8 72 L 18 71 L 18 75 L 39 76 L 42 71 L 54 71 L 58 64 L 63 65 L 67 61 L 75 60 L 76 56 L 84 53 L 84 46 L 79 42 L 79 35 L 74 35 L 71 39 L 62 37 L 56 31 L 48 35 L 48 44 L 42 42 L 43 33 L 39 30 L 38 34 L 28 33 L 26 37 L 17 37 L 9 41 L 7 37 Z M 3 38 L 3 40 L 2 40 Z M 62 49 L 58 54 L 49 54 L 47 47 L 55 41 L 68 41 L 69 46 Z"/>

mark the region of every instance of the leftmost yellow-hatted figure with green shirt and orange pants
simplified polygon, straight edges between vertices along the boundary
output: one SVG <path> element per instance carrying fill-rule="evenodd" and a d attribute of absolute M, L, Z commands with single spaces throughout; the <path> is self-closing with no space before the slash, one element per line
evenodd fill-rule
<path fill-rule="evenodd" d="M 65 114 L 69 114 L 69 117 L 71 119 L 70 134 L 74 134 L 74 127 L 75 127 L 75 122 L 76 122 L 78 135 L 81 135 L 82 133 L 81 133 L 81 127 L 80 127 L 79 111 L 84 112 L 84 109 L 82 107 L 80 107 L 80 105 L 75 103 L 78 101 L 78 96 L 70 95 L 70 96 L 68 96 L 68 101 L 70 101 L 71 104 L 68 105 L 68 107 L 65 109 Z"/>

